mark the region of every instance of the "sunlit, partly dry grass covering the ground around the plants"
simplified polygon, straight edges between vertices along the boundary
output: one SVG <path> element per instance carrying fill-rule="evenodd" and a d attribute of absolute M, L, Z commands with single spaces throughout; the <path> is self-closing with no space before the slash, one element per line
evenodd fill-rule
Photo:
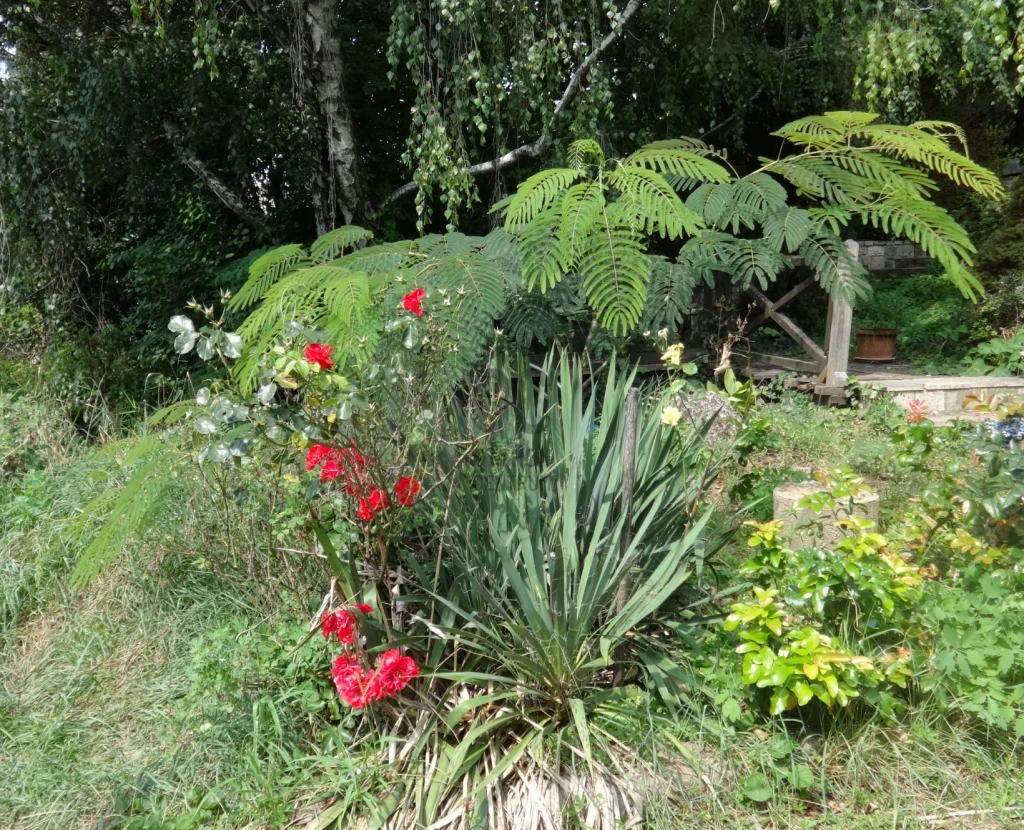
<path fill-rule="evenodd" d="M 878 442 L 881 416 L 826 412 L 792 397 L 768 411 L 779 440 L 759 463 L 848 462 L 870 476 L 868 450 Z M 295 700 L 275 698 L 273 719 L 283 725 L 269 740 L 257 737 L 266 718 L 253 703 L 264 681 L 228 694 L 238 705 L 208 705 L 224 697 L 214 688 L 221 681 L 197 674 L 195 644 L 231 624 L 238 635 L 213 642 L 244 665 L 256 659 L 253 644 L 278 637 L 282 623 L 245 634 L 265 609 L 257 611 L 193 560 L 169 553 L 202 545 L 203 533 L 169 523 L 156 534 L 159 550 L 129 553 L 80 595 L 63 587 L 76 555 L 63 533 L 95 489 L 90 476 L 102 462 L 73 450 L 55 451 L 47 463 L 47 474 L 30 482 L 32 498 L 26 499 L 23 480 L 8 485 L 0 507 L 0 608 L 16 607 L 16 615 L 0 614 L 0 827 L 123 827 L 119 817 L 138 797 L 143 813 L 202 816 L 210 822 L 202 826 L 274 827 L 290 821 L 295 803 L 310 793 L 365 792 L 369 782 L 357 769 L 357 752 L 352 757 L 328 744 L 318 753 L 309 740 L 323 737 L 323 722 L 304 729 L 313 717 Z M 261 635 L 264 629 L 269 634 Z M 224 658 L 204 659 L 216 665 Z M 282 679 L 280 690 L 287 688 Z M 694 783 L 682 807 L 654 804 L 652 826 L 943 826 L 924 817 L 1000 811 L 1024 791 L 1012 753 L 988 749 L 927 711 L 905 729 L 873 724 L 837 730 L 824 741 L 786 740 L 782 753 L 778 733 L 733 734 L 714 713 L 708 716 L 706 724 L 680 724 L 678 735 L 706 759 L 708 781 Z M 641 727 L 636 741 L 645 740 Z M 342 725 L 334 745 L 344 745 L 345 736 Z M 797 762 L 815 771 L 817 780 L 806 790 L 776 787 L 761 805 L 739 795 L 744 776 L 760 773 L 776 782 Z M 189 813 L 211 788 L 225 810 Z M 944 826 L 1018 827 L 1021 816 L 986 813 Z"/>

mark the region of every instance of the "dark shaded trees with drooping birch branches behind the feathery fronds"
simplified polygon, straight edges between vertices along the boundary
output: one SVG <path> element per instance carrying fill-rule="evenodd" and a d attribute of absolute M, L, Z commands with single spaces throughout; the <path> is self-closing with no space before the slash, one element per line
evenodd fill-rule
<path fill-rule="evenodd" d="M 809 0 L 634 5 L 7 4 L 3 339 L 35 320 L 46 351 L 34 356 L 78 418 L 131 408 L 154 373 L 180 369 L 153 333 L 189 296 L 237 285 L 232 261 L 346 223 L 387 241 L 417 221 L 482 235 L 487 207 L 584 136 L 612 159 L 713 131 L 746 173 L 777 151 L 778 124 L 876 89 L 871 108 L 897 123 L 961 121 L 986 164 L 1006 155 L 1013 84 L 995 65 L 1016 61 L 1016 35 L 1000 34 L 1012 10 L 922 12 L 915 40 L 879 38 L 866 8 Z M 962 49 L 954 27 L 969 18 Z M 321 48 L 335 41 L 337 54 Z M 905 54 L 926 42 L 927 57 Z M 874 69 L 858 71 L 860 54 Z M 655 274 L 667 296 L 669 276 Z M 575 316 L 570 298 L 558 305 Z M 87 365 L 67 359 L 76 349 Z"/>

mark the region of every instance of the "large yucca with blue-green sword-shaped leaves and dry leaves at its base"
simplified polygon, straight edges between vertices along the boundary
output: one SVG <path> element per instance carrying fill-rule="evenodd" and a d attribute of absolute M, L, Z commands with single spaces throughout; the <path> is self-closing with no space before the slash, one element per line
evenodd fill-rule
<path fill-rule="evenodd" d="M 622 496 L 635 372 L 588 377 L 581 361 L 551 356 L 530 376 L 524 361 L 514 376 L 499 362 L 488 403 L 453 403 L 455 437 L 439 442 L 449 486 L 424 501 L 434 559 L 408 557 L 419 589 L 399 598 L 418 609 L 402 627 L 432 671 L 422 705 L 392 711 L 412 743 L 389 827 L 528 826 L 538 811 L 559 825 L 579 798 L 589 826 L 617 827 L 642 820 L 643 791 L 658 780 L 612 732 L 635 715 L 644 659 L 663 678 L 682 674 L 650 635 L 659 614 L 696 599 L 723 539 L 703 503 L 727 448 L 709 451 L 707 424 L 681 441 L 659 422 L 656 392 L 643 400 L 631 519 Z"/>

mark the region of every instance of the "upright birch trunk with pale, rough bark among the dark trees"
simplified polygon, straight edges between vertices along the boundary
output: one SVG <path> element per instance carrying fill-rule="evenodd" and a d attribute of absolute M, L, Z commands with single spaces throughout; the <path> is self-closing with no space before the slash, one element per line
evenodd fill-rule
<path fill-rule="evenodd" d="M 327 127 L 330 171 L 322 201 L 331 227 L 366 224 L 373 211 L 367 193 L 352 111 L 345 94 L 338 36 L 338 0 L 308 0 L 306 24 L 311 46 L 312 82 Z"/>

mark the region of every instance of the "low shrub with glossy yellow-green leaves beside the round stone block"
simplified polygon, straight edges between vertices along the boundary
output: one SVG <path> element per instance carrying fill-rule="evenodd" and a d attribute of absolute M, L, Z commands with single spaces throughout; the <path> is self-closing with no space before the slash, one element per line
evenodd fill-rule
<path fill-rule="evenodd" d="M 841 476 L 802 505 L 842 509 L 852 484 L 861 486 Z M 754 556 L 740 571 L 756 580 L 754 602 L 733 604 L 725 622 L 741 641 L 743 683 L 771 691 L 772 714 L 814 699 L 831 708 L 864 697 L 891 715 L 900 705 L 891 686 L 905 688 L 912 672 L 889 636 L 920 596 L 916 569 L 886 550 L 873 523 L 853 515 L 840 524 L 854 535 L 835 550 L 791 551 L 781 522 L 749 524 Z"/>

